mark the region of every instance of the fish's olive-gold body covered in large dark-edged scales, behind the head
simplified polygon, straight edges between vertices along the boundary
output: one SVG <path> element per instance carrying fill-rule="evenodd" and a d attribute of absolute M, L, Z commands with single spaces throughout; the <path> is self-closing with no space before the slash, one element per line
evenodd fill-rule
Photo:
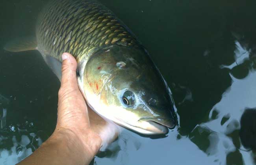
<path fill-rule="evenodd" d="M 50 2 L 39 16 L 37 41 L 43 54 L 60 61 L 65 51 L 79 60 L 113 44 L 139 45 L 126 26 L 97 1 L 68 1 Z"/>

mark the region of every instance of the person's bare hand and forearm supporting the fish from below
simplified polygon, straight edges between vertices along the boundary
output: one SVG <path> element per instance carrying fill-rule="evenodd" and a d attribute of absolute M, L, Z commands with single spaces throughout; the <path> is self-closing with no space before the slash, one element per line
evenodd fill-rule
<path fill-rule="evenodd" d="M 19 165 L 85 165 L 101 146 L 118 135 L 119 128 L 87 108 L 76 78 L 76 60 L 63 53 L 56 129 L 35 152 Z"/>

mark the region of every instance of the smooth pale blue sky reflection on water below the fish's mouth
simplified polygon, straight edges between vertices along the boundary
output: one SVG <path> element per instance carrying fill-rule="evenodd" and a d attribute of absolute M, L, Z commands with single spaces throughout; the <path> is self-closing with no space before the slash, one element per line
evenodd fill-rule
<path fill-rule="evenodd" d="M 117 158 L 96 158 L 96 164 L 210 165 L 211 162 L 214 164 L 215 157 L 208 157 L 187 137 L 177 140 L 177 135 L 177 130 L 169 132 L 168 137 L 163 139 L 143 138 L 137 134 L 121 134 L 121 138 L 122 136 L 126 138 L 129 136 L 130 138 L 126 142 L 119 141 L 121 151 L 119 151 Z M 134 141 L 140 142 L 139 148 L 136 148 Z"/>

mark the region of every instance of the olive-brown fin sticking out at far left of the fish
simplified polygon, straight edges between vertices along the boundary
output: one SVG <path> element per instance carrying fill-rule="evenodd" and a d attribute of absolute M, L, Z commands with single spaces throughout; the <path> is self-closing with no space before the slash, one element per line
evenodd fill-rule
<path fill-rule="evenodd" d="M 35 37 L 21 37 L 8 42 L 4 49 L 11 52 L 20 52 L 37 49 L 37 40 Z"/>

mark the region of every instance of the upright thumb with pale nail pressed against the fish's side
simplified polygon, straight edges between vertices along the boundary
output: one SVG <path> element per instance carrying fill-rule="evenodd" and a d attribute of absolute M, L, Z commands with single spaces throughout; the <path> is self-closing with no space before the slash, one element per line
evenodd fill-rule
<path fill-rule="evenodd" d="M 61 88 L 68 90 L 65 91 L 67 93 L 78 90 L 78 83 L 76 79 L 76 59 L 70 53 L 63 53 L 61 58 L 63 61 L 61 69 Z"/>

